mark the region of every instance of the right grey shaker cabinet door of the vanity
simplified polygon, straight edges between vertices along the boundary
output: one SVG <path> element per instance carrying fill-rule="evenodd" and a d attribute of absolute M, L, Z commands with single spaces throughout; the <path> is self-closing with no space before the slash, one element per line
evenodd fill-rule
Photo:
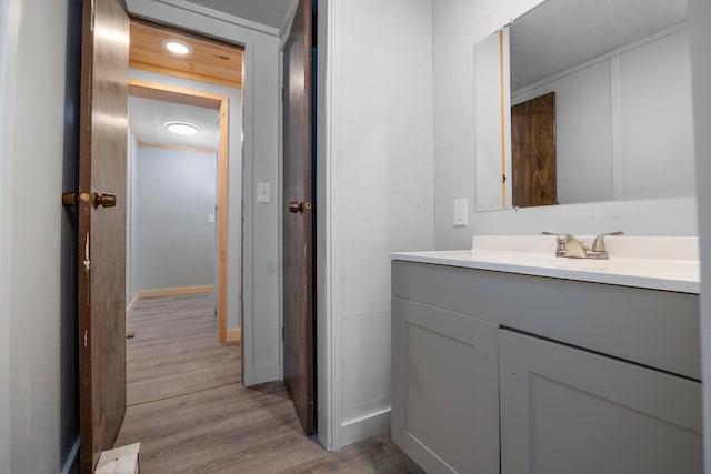
<path fill-rule="evenodd" d="M 701 473 L 701 384 L 501 330 L 501 472 Z"/>

